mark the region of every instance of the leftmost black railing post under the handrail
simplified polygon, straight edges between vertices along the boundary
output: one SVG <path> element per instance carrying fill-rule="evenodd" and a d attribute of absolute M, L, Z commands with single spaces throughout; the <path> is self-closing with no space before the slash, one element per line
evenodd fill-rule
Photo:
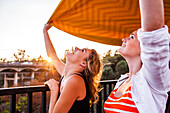
<path fill-rule="evenodd" d="M 10 100 L 10 113 L 15 112 L 16 112 L 16 94 L 12 94 Z"/>

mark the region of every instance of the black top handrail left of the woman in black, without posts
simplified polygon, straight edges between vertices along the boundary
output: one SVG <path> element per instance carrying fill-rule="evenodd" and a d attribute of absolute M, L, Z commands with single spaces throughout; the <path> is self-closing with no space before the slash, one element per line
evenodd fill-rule
<path fill-rule="evenodd" d="M 42 91 L 50 91 L 50 89 L 47 85 L 0 88 L 0 96 L 21 94 L 21 93 L 42 92 Z"/>

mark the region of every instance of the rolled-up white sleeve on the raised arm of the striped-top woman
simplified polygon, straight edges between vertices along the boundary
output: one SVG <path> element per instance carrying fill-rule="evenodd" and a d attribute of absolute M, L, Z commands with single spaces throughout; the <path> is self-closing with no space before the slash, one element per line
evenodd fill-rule
<path fill-rule="evenodd" d="M 151 32 L 137 32 L 141 47 L 143 75 L 158 90 L 170 90 L 168 27 Z"/>

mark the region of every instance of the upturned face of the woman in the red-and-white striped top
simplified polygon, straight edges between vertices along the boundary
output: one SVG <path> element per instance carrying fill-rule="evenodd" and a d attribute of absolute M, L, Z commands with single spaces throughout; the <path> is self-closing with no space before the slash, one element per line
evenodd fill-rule
<path fill-rule="evenodd" d="M 128 38 L 122 39 L 122 47 L 119 53 L 124 57 L 140 56 L 140 43 L 137 38 L 137 31 L 133 32 Z"/>

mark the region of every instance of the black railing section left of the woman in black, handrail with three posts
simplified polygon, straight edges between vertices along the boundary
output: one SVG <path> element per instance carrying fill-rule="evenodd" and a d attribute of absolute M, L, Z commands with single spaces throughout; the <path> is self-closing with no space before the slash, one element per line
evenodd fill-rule
<path fill-rule="evenodd" d="M 10 95 L 10 113 L 16 111 L 16 94 L 27 94 L 27 113 L 32 113 L 32 93 L 42 92 L 41 99 L 41 112 L 46 113 L 46 91 L 50 91 L 48 86 L 28 86 L 28 87 L 14 87 L 14 88 L 1 88 L 0 96 Z"/>

